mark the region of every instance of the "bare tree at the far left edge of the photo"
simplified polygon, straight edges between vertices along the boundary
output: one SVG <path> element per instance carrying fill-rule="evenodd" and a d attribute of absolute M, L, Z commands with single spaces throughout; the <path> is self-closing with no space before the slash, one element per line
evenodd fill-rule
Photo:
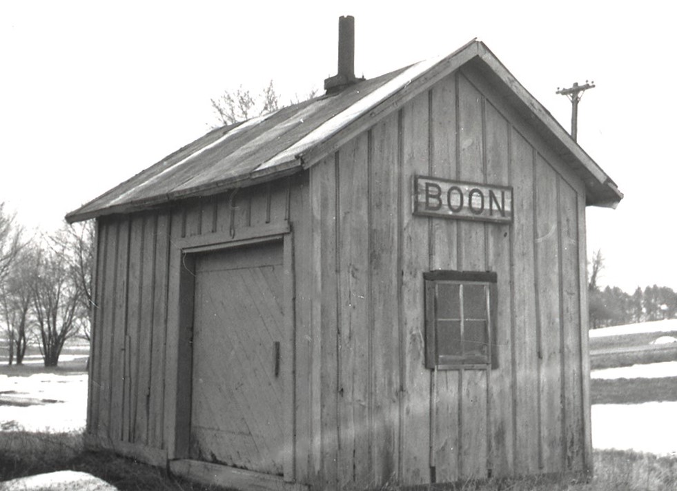
<path fill-rule="evenodd" d="M 36 271 L 35 252 L 23 248 L 10 269 L 6 281 L 0 286 L 0 309 L 8 339 L 8 364 L 16 356 L 17 365 L 23 363 L 28 346 L 31 325 L 32 283 Z"/>

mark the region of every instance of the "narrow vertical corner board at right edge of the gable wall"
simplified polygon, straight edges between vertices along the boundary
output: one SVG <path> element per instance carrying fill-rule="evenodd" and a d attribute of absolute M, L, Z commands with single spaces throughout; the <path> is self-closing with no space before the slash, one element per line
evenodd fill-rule
<path fill-rule="evenodd" d="M 583 470 L 593 472 L 592 432 L 590 419 L 590 354 L 588 347 L 588 288 L 585 235 L 585 193 L 577 196 L 578 205 L 578 292 L 580 294 L 580 383 L 582 391 Z"/>

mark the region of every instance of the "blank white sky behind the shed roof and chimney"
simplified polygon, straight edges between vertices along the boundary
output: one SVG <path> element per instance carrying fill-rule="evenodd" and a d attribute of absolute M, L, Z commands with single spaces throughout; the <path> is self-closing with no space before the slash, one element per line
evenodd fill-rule
<path fill-rule="evenodd" d="M 0 3 L 0 201 L 30 228 L 63 215 L 206 132 L 209 99 L 273 79 L 284 96 L 335 74 L 337 18 L 355 16 L 355 72 L 371 78 L 473 37 L 569 129 L 555 94 L 595 81 L 578 141 L 618 183 L 589 208 L 602 284 L 677 290 L 668 2 L 26 1 Z"/>

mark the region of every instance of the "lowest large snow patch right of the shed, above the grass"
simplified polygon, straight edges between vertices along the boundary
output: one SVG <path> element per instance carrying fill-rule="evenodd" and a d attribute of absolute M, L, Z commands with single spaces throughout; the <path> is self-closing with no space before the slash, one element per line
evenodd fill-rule
<path fill-rule="evenodd" d="M 595 404 L 591 414 L 594 448 L 677 455 L 677 402 Z"/>

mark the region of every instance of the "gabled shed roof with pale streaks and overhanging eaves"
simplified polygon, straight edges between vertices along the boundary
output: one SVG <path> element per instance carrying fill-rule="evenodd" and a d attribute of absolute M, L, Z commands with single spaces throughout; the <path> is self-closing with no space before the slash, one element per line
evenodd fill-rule
<path fill-rule="evenodd" d="M 69 222 L 161 206 L 268 181 L 312 166 L 389 112 L 466 63 L 478 68 L 585 181 L 587 204 L 616 206 L 622 193 L 552 115 L 480 41 L 261 117 L 224 126 L 66 215 Z"/>

